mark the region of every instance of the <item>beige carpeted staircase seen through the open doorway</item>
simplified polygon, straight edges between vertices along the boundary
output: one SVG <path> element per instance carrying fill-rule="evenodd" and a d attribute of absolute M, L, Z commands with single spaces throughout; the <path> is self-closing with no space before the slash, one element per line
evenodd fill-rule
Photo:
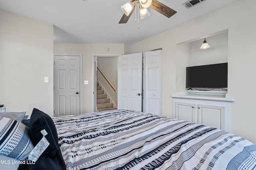
<path fill-rule="evenodd" d="M 113 104 L 110 103 L 110 99 L 107 98 L 107 94 L 102 90 L 102 87 L 97 83 L 97 109 L 98 111 L 106 111 L 116 109 Z"/>

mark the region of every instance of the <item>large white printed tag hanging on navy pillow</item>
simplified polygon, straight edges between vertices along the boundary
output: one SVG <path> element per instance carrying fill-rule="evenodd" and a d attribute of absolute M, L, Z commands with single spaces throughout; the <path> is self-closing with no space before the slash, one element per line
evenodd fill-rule
<path fill-rule="evenodd" d="M 41 131 L 42 133 L 42 131 Z M 34 149 L 30 152 L 28 159 L 36 162 L 39 156 L 46 150 L 46 148 L 50 145 L 47 139 L 43 136 L 43 138 L 38 142 L 38 144 L 34 147 Z"/>

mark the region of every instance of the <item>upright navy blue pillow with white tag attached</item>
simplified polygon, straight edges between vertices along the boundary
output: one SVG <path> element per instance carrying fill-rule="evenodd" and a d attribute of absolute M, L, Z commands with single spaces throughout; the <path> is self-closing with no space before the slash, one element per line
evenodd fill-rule
<path fill-rule="evenodd" d="M 43 154 L 53 158 L 58 151 L 58 134 L 52 118 L 46 113 L 34 108 L 30 117 L 29 136 L 33 145 L 36 146 L 42 139 L 42 130 L 48 133 L 45 137 L 50 145 L 44 150 Z"/>

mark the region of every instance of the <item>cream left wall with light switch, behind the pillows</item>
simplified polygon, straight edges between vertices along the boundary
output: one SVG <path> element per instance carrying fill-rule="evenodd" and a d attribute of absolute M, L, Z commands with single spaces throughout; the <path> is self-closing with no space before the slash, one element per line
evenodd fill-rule
<path fill-rule="evenodd" d="M 1 9 L 0 23 L 0 103 L 53 116 L 53 25 Z"/>

